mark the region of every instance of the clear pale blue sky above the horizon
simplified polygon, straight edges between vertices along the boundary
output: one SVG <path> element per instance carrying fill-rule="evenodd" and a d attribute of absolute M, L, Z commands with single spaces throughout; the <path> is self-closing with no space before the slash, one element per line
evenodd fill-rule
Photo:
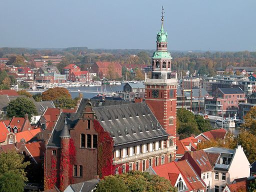
<path fill-rule="evenodd" d="M 256 51 L 256 0 L 0 0 L 0 47 Z"/>

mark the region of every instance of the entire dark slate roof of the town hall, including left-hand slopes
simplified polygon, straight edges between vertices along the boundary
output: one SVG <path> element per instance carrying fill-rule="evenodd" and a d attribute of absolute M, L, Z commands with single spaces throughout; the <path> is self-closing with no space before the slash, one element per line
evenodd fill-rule
<path fill-rule="evenodd" d="M 67 127 L 73 128 L 79 117 L 82 116 L 87 99 L 82 99 L 76 113 L 61 112 L 52 131 L 47 146 L 60 146 L 60 132 L 68 115 Z M 91 99 L 92 109 L 98 122 L 113 137 L 114 146 L 127 144 L 144 139 L 167 138 L 167 133 L 161 127 L 149 107 L 141 103 L 127 103 L 119 100 L 98 101 Z"/>

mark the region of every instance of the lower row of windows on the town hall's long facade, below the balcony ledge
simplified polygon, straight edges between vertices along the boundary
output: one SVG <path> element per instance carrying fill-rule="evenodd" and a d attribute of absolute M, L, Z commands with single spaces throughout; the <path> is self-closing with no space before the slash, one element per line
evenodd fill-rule
<path fill-rule="evenodd" d="M 155 161 L 154 161 L 154 166 L 158 166 L 159 165 L 159 160 L 161 160 L 161 164 L 164 164 L 164 155 L 161 155 L 161 156 L 156 156 L 154 157 L 155 158 Z M 169 158 L 168 158 L 168 162 L 171 162 L 172 161 L 172 154 L 169 154 Z M 133 162 L 135 163 L 135 170 L 139 170 L 140 167 L 139 167 L 139 161 L 136 161 L 136 162 Z M 149 158 L 148 159 L 148 166 L 153 166 L 153 158 Z M 142 171 L 146 170 L 146 159 L 142 160 Z M 132 162 L 129 163 L 129 170 L 132 170 Z M 124 173 L 126 172 L 126 165 L 123 164 L 121 166 L 121 172 Z M 115 168 L 115 174 L 118 174 L 118 167 Z"/>

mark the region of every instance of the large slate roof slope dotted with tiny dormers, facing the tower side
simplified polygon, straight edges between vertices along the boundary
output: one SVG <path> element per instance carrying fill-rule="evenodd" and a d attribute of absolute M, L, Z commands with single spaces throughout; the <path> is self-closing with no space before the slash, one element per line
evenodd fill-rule
<path fill-rule="evenodd" d="M 168 134 L 157 121 L 147 104 L 130 103 L 93 107 L 97 120 L 113 137 L 114 145 Z"/>

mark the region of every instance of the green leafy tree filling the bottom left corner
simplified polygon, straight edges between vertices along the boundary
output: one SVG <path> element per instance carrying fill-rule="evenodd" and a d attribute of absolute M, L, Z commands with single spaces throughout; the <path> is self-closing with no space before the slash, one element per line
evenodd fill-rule
<path fill-rule="evenodd" d="M 14 150 L 0 153 L 0 192 L 23 191 L 24 181 L 27 181 L 24 156 Z"/>

